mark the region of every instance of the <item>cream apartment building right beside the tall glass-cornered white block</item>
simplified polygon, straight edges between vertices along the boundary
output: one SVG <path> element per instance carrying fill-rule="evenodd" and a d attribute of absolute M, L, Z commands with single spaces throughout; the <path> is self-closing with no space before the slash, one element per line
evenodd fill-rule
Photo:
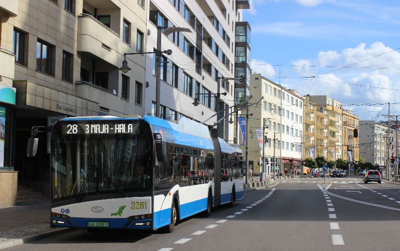
<path fill-rule="evenodd" d="M 251 107 L 249 117 L 248 157 L 253 173 L 273 173 L 273 166 L 280 168 L 280 135 L 281 135 L 281 104 L 280 93 L 282 86 L 262 77 L 261 74 L 250 74 L 251 96 L 259 100 L 260 105 Z M 267 141 L 264 138 L 267 138 Z M 263 145 L 262 145 L 263 144 Z M 264 161 L 262 158 L 264 153 Z M 261 163 L 268 159 L 268 165 L 263 168 Z M 259 163 L 259 164 L 258 164 Z M 275 169 L 276 172 L 277 169 Z"/>

